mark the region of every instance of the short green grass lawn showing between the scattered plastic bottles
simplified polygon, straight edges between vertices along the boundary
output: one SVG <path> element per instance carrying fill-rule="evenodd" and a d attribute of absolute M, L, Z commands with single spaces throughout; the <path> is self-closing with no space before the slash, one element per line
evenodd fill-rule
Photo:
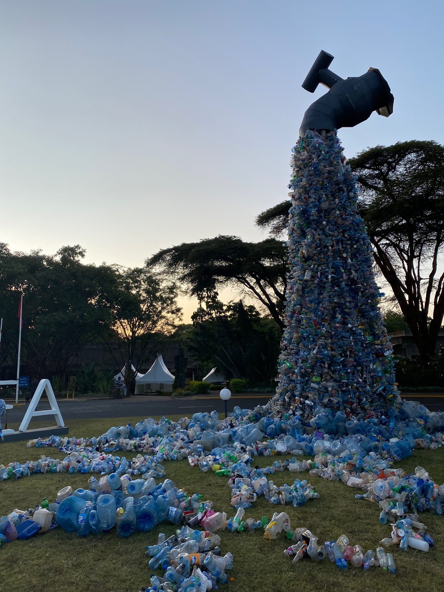
<path fill-rule="evenodd" d="M 76 420 L 69 422 L 70 435 L 93 436 L 104 433 L 112 425 L 133 425 L 139 417 L 125 417 L 118 420 Z M 179 419 L 179 416 L 171 416 Z M 9 426 L 8 426 L 9 427 Z M 13 426 L 11 426 L 13 427 Z M 25 442 L 0 444 L 0 463 L 24 462 L 38 459 L 48 453 L 54 458 L 62 458 L 58 450 L 49 448 L 26 448 Z M 288 458 L 287 456 L 283 457 Z M 257 457 L 259 466 L 267 466 L 275 458 Z M 413 471 L 422 465 L 430 476 L 440 484 L 444 482 L 444 448 L 437 451 L 415 451 L 413 456 L 404 459 L 398 466 Z M 191 468 L 188 461 L 165 462 L 166 477 L 177 487 L 185 487 L 187 493 L 199 491 L 205 499 L 214 501 L 214 509 L 234 515 L 230 504 L 230 488 L 226 477 L 214 473 L 202 473 Z M 308 478 L 308 473 L 291 474 L 279 472 L 272 478 L 278 485 L 294 477 Z M 269 477 L 271 477 L 269 475 Z M 15 508 L 27 509 L 41 503 L 43 497 L 54 501 L 57 492 L 65 485 L 73 489 L 88 487 L 87 475 L 33 475 L 18 481 L 0 482 L 0 516 Z M 374 551 L 380 539 L 390 536 L 391 527 L 378 522 L 379 509 L 376 504 L 366 500 L 356 500 L 355 489 L 342 482 L 324 481 L 314 477 L 311 484 L 320 493 L 320 499 L 308 501 L 305 506 L 295 509 L 285 506 L 292 527 L 305 526 L 319 537 L 320 542 L 336 539 L 345 533 L 352 545 L 359 544 L 364 551 Z M 282 506 L 268 504 L 263 497 L 255 507 L 246 510 L 245 517 L 269 519 L 275 511 L 284 510 Z M 444 590 L 444 522 L 437 516 L 425 514 L 421 520 L 428 526 L 435 539 L 435 546 L 428 552 L 399 551 L 392 547 L 397 565 L 397 574 L 391 575 L 380 568 L 368 572 L 349 567 L 340 572 L 328 559 L 315 563 L 304 558 L 293 565 L 284 556 L 289 545 L 285 538 L 271 543 L 265 542 L 259 532 L 247 535 L 230 534 L 219 531 L 221 548 L 234 556 L 234 568 L 229 572 L 234 581 L 221 586 L 223 592 L 442 592 Z M 145 545 L 152 545 L 159 532 L 172 534 L 173 525 L 160 523 L 149 533 L 134 533 L 128 539 L 118 538 L 115 530 L 98 536 L 78 538 L 57 528 L 43 535 L 25 541 L 16 540 L 0 549 L 0 591 L 1 592 L 139 592 L 149 585 L 150 569 L 144 558 Z M 157 570 L 162 575 L 162 570 Z"/>

